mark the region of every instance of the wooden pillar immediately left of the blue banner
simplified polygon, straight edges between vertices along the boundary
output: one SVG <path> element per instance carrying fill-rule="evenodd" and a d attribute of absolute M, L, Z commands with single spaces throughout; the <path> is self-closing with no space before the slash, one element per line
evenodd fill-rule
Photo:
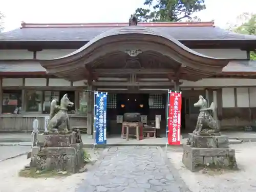
<path fill-rule="evenodd" d="M 93 135 L 93 105 L 94 105 L 94 101 L 93 101 L 93 94 L 94 92 L 92 92 L 92 86 L 88 85 L 87 87 L 87 134 L 88 135 Z"/>

